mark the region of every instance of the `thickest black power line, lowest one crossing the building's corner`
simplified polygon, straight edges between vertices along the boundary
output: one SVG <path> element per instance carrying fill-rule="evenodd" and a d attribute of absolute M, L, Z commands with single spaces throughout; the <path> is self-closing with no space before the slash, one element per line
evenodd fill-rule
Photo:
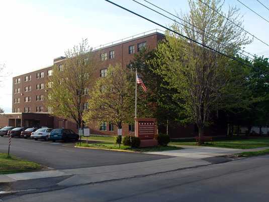
<path fill-rule="evenodd" d="M 224 54 L 224 53 L 222 53 L 222 52 L 220 52 L 220 51 L 218 51 L 218 50 L 215 50 L 215 49 L 213 49 L 213 48 L 211 48 L 211 47 L 209 47 L 209 46 L 207 46 L 207 45 L 204 45 L 204 44 L 202 44 L 202 43 L 200 43 L 200 42 L 198 42 L 198 41 L 196 41 L 196 40 L 194 40 L 194 39 L 191 39 L 191 38 L 189 38 L 189 37 L 187 37 L 187 36 L 184 36 L 184 35 L 181 34 L 181 33 L 175 32 L 175 31 L 173 31 L 172 29 L 170 29 L 170 28 L 168 28 L 168 27 L 166 27 L 166 26 L 164 26 L 164 25 L 161 25 L 161 24 L 159 24 L 159 23 L 157 23 L 157 22 L 155 22 L 155 21 L 153 21 L 153 20 L 150 20 L 150 19 L 148 19 L 148 18 L 146 18 L 146 17 L 144 17 L 144 16 L 142 16 L 142 15 L 140 15 L 140 14 L 138 14 L 138 13 L 135 13 L 134 11 L 131 11 L 131 10 L 129 10 L 129 9 L 123 7 L 123 6 L 120 6 L 120 5 L 118 5 L 118 4 L 116 4 L 116 3 L 112 2 L 112 1 L 109 1 L 109 0 L 105 0 L 105 1 L 108 2 L 108 3 L 110 3 L 110 4 L 113 4 L 114 6 L 119 7 L 119 8 L 121 8 L 121 9 L 125 10 L 125 11 L 128 11 L 128 12 L 130 12 L 130 13 L 132 13 L 132 14 L 134 14 L 134 15 L 140 17 L 140 18 L 143 18 L 143 19 L 145 19 L 145 20 L 147 20 L 147 21 L 149 21 L 149 22 L 151 22 L 151 23 L 153 23 L 153 24 L 155 24 L 155 25 L 158 25 L 158 26 L 160 26 L 160 27 L 162 27 L 162 28 L 164 28 L 164 29 L 166 29 L 166 30 L 168 30 L 168 31 L 170 31 L 170 32 L 173 32 L 173 33 L 175 33 L 175 34 L 177 34 L 177 35 L 179 35 L 179 36 L 182 36 L 182 37 L 184 37 L 184 38 L 186 38 L 186 39 L 188 39 L 188 40 L 190 40 L 190 41 L 192 41 L 192 42 L 195 42 L 195 43 L 197 43 L 197 44 L 199 44 L 199 45 L 201 45 L 201 46 L 203 46 L 203 47 L 205 47 L 205 48 L 208 48 L 208 49 L 210 49 L 210 50 L 212 50 L 212 51 L 214 51 L 214 52 L 217 52 L 217 53 L 219 53 L 219 54 L 221 54 L 221 55 L 223 55 L 223 56 L 226 56 L 226 57 L 228 57 L 228 58 L 230 58 L 230 59 L 233 59 L 233 60 L 235 60 L 235 61 L 237 61 L 237 62 L 239 62 L 239 63 L 241 63 L 241 64 L 244 64 L 244 65 L 246 65 L 246 66 L 249 66 L 250 68 L 255 68 L 255 69 L 257 69 L 257 70 L 259 70 L 259 71 L 261 71 L 261 72 L 264 72 L 263 70 L 260 70 L 259 68 L 256 68 L 256 67 L 253 66 L 253 65 L 249 65 L 249 64 L 247 64 L 247 63 L 245 63 L 245 62 L 240 61 L 239 59 L 236 59 L 236 58 L 233 57 L 233 56 L 226 55 L 226 54 Z M 264 73 L 269 74 L 269 73 L 267 73 L 267 72 L 264 72 Z"/>

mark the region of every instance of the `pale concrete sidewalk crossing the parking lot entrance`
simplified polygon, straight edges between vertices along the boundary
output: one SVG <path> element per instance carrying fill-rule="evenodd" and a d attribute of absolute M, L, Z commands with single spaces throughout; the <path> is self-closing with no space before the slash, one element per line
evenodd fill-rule
<path fill-rule="evenodd" d="M 169 170 L 190 168 L 208 164 L 211 163 L 205 160 L 175 157 L 111 166 L 6 174 L 0 175 L 0 182 L 15 182 L 19 180 L 72 176 L 59 183 L 59 185 L 67 186 L 113 179 L 129 178 L 138 175 L 149 175 L 154 173 L 166 172 Z"/>

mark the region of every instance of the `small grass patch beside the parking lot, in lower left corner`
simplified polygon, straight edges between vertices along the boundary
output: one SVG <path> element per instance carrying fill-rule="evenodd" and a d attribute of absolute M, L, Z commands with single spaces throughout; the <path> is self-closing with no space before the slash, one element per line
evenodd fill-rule
<path fill-rule="evenodd" d="M 0 174 L 28 172 L 41 169 L 41 165 L 0 153 Z"/>

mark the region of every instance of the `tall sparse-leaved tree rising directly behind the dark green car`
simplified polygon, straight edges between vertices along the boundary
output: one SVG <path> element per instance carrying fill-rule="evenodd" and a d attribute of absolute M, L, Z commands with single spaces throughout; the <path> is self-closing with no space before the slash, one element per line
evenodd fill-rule
<path fill-rule="evenodd" d="M 46 106 L 53 115 L 73 119 L 82 127 L 84 106 L 93 83 L 94 60 L 87 40 L 65 52 L 62 65 L 53 66 L 53 76 L 48 82 Z"/>

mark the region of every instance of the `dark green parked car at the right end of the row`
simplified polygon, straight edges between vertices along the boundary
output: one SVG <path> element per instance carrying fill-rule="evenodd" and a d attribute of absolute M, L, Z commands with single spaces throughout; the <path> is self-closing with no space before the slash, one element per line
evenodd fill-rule
<path fill-rule="evenodd" d="M 61 141 L 69 141 L 69 140 L 74 140 L 78 141 L 79 136 L 75 132 L 73 132 L 70 129 L 53 129 L 50 132 L 49 139 L 52 140 L 52 142 L 61 140 Z"/>

